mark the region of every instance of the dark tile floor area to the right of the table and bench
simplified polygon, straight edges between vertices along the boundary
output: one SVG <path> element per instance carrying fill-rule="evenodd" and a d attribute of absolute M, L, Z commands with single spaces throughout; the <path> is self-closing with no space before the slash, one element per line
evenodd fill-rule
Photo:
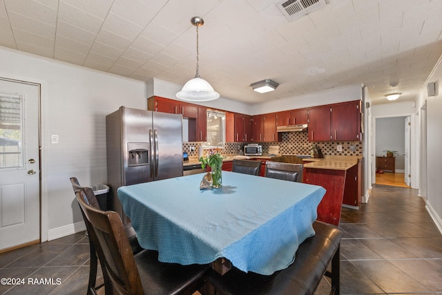
<path fill-rule="evenodd" d="M 442 292 L 442 235 L 417 190 L 377 184 L 361 209 L 343 208 L 340 227 L 341 294 Z"/>

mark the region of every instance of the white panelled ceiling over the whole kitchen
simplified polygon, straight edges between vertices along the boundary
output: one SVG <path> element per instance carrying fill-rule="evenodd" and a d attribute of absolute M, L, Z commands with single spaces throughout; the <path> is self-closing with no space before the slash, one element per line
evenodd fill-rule
<path fill-rule="evenodd" d="M 200 75 L 258 103 L 354 84 L 413 100 L 442 55 L 442 0 L 327 0 L 287 21 L 279 0 L 0 0 L 0 46 L 147 81 Z M 273 79 L 259 94 L 249 85 Z M 398 84 L 396 87 L 390 84 Z"/>

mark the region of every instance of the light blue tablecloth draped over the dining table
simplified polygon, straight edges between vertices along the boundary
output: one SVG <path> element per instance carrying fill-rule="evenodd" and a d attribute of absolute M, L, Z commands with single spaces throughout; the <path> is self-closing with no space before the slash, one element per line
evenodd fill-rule
<path fill-rule="evenodd" d="M 224 257 L 244 272 L 273 274 L 294 262 L 325 189 L 222 171 L 222 188 L 200 191 L 202 174 L 118 189 L 140 245 L 166 263 Z"/>

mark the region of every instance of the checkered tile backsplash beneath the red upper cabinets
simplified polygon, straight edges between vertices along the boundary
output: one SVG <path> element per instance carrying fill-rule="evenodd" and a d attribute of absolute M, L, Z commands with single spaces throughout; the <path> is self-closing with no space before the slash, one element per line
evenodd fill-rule
<path fill-rule="evenodd" d="M 202 142 L 184 142 L 182 149 L 187 152 L 190 157 L 198 156 L 198 148 Z M 242 151 L 246 142 L 227 142 L 224 154 L 238 154 Z M 279 146 L 282 154 L 309 155 L 312 144 L 317 144 L 323 155 L 363 155 L 363 142 L 309 142 L 307 131 L 302 132 L 284 132 L 282 133 L 281 142 L 261 142 L 262 153 L 269 152 L 269 146 Z M 336 146 L 340 144 L 342 151 L 337 151 Z M 195 151 L 191 152 L 191 146 Z"/>

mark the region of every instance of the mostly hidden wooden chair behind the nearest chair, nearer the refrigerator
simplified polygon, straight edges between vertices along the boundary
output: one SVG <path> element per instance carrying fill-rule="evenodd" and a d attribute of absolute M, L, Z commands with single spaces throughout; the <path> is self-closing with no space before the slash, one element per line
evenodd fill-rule
<path fill-rule="evenodd" d="M 90 191 L 89 191 L 89 193 L 86 194 L 86 191 L 85 191 L 86 187 L 81 187 L 81 185 L 79 184 L 79 181 L 75 177 L 70 178 L 70 184 L 72 184 L 74 193 L 81 192 L 83 194 L 85 200 L 87 200 L 87 202 L 90 206 L 94 207 L 95 209 L 100 209 L 97 198 L 95 197 L 95 193 L 93 193 L 92 189 L 90 189 L 90 191 L 92 191 L 92 193 L 90 193 Z M 84 216 L 84 212 L 83 212 L 83 210 L 81 210 L 81 207 L 80 207 L 80 211 L 81 211 L 81 214 L 83 215 L 84 222 L 86 223 L 86 230 L 89 235 L 90 229 L 88 228 L 88 222 L 86 222 L 86 216 Z M 131 245 L 131 249 L 134 254 L 143 250 L 143 248 L 138 243 L 135 229 L 133 229 L 131 223 L 127 223 L 126 225 L 124 225 L 124 233 L 126 234 L 128 240 L 129 240 L 129 244 Z M 89 268 L 89 281 L 88 281 L 87 294 L 93 295 L 93 294 L 97 294 L 97 290 L 100 289 L 101 287 L 103 287 L 104 285 L 103 284 L 97 285 L 98 259 L 97 259 L 97 253 L 96 253 L 96 250 L 94 247 L 94 243 L 90 238 L 89 238 L 89 251 L 90 251 L 90 268 Z M 105 275 L 104 272 L 103 272 L 103 275 Z"/>

